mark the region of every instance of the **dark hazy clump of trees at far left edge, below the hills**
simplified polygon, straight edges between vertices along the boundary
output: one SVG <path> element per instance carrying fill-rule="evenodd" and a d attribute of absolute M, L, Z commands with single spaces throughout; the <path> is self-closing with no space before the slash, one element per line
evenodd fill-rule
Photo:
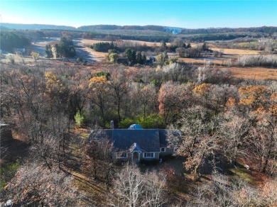
<path fill-rule="evenodd" d="M 0 48 L 13 52 L 16 48 L 26 48 L 31 45 L 31 41 L 24 35 L 16 34 L 13 32 L 0 34 Z"/>

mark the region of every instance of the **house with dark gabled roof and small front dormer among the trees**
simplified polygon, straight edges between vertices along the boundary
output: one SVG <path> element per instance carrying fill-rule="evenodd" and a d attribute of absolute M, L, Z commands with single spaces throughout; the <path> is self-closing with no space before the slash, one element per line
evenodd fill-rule
<path fill-rule="evenodd" d="M 89 138 L 95 138 L 95 132 L 93 130 Z M 173 155 L 175 150 L 168 146 L 166 138 L 168 133 L 180 137 L 177 130 L 143 129 L 138 124 L 130 125 L 128 129 L 112 127 L 112 129 L 103 130 L 103 133 L 113 142 L 116 152 L 120 152 L 117 153 L 116 158 L 135 162 L 159 160 L 166 155 Z"/>

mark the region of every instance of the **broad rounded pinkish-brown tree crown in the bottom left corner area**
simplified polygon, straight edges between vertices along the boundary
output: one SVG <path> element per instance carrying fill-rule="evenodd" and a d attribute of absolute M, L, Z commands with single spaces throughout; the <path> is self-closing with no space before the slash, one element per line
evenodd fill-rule
<path fill-rule="evenodd" d="M 20 167 L 7 184 L 6 198 L 15 206 L 75 206 L 78 194 L 71 181 L 71 177 L 58 169 L 28 164 Z"/>

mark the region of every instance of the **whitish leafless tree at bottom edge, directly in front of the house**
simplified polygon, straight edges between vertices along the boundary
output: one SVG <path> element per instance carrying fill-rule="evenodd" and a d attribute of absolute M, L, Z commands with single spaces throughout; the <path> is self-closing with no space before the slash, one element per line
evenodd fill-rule
<path fill-rule="evenodd" d="M 162 206 L 166 203 L 165 177 L 159 177 L 157 172 L 142 174 L 131 164 L 126 164 L 116 174 L 114 191 L 112 206 Z"/>

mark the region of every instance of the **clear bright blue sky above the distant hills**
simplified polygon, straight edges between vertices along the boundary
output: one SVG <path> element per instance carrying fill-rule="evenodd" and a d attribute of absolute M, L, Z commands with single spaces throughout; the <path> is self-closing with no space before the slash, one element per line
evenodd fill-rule
<path fill-rule="evenodd" d="M 157 25 L 180 28 L 277 26 L 274 1 L 0 0 L 2 23 L 59 26 Z"/>

